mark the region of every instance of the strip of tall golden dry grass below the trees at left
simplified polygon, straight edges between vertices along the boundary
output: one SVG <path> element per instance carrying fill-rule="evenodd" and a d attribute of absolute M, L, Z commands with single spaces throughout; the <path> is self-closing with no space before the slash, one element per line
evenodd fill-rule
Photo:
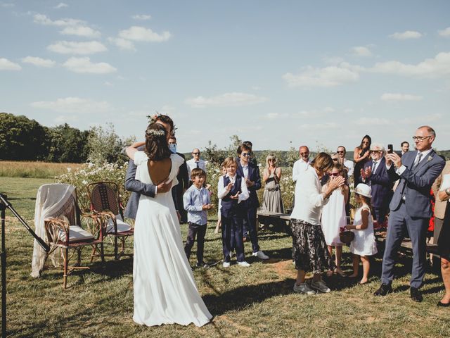
<path fill-rule="evenodd" d="M 53 178 L 81 167 L 80 163 L 0 161 L 0 177 Z"/>

